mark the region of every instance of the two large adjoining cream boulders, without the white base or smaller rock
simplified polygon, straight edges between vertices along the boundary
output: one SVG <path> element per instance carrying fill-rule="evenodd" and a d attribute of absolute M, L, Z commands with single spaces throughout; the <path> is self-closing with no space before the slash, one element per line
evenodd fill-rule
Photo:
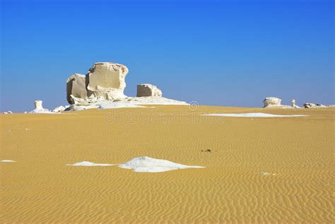
<path fill-rule="evenodd" d="M 68 78 L 66 98 L 70 104 L 123 99 L 127 73 L 122 64 L 97 62 L 86 76 L 76 73 Z"/>

